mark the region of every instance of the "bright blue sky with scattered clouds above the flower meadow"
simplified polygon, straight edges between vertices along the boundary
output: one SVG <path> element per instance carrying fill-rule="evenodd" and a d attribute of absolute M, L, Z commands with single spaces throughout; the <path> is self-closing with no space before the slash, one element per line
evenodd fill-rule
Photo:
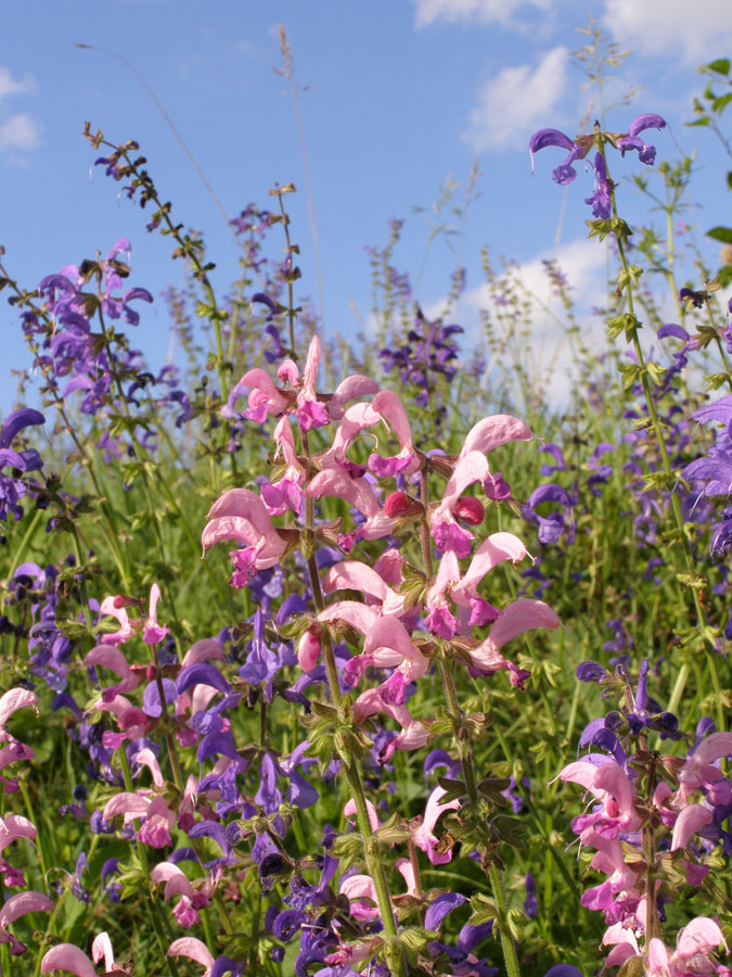
<path fill-rule="evenodd" d="M 226 225 L 175 136 L 134 75 L 119 61 L 74 47 L 81 41 L 127 59 L 175 122 L 232 216 L 248 201 L 292 180 L 294 239 L 303 250 L 303 292 L 317 297 L 303 155 L 292 99 L 271 68 L 280 64 L 284 24 L 295 73 L 318 221 L 326 331 L 351 335 L 354 309 L 371 305 L 364 245 L 386 241 L 389 218 L 407 218 L 397 263 L 416 276 L 428 207 L 450 176 L 465 183 L 477 160 L 479 198 L 463 244 L 467 294 L 459 310 L 474 327 L 480 295 L 479 250 L 515 258 L 529 278 L 556 246 L 588 302 L 602 286 L 604 259 L 582 242 L 591 175 L 568 190 L 547 150 L 530 175 L 527 141 L 538 128 L 578 131 L 592 92 L 570 52 L 586 42 L 576 28 L 593 16 L 633 52 L 614 91 L 641 90 L 607 126 L 624 131 L 641 112 L 666 117 L 688 152 L 696 150 L 701 226 L 730 223 L 724 160 L 705 130 L 684 128 L 702 87 L 693 68 L 732 48 L 729 0 L 74 0 L 13 4 L 0 42 L 0 243 L 5 263 L 34 287 L 62 266 L 106 253 L 120 236 L 133 245 L 132 284 L 158 295 L 178 280 L 168 243 L 144 230 L 144 213 L 118 196 L 81 138 L 84 122 L 113 141 L 137 139 L 162 194 L 187 226 L 204 231 L 219 283 L 236 253 Z M 612 101 L 611 92 L 611 101 Z M 592 117 L 598 114 L 596 104 Z M 659 158 L 677 153 L 667 131 L 653 132 Z M 637 158 L 624 170 L 638 172 Z M 620 174 L 616 174 L 616 177 Z M 631 191 L 629 191 L 630 194 Z M 460 200 L 460 192 L 458 194 Z M 628 198 L 630 200 L 630 196 Z M 565 210 L 563 210 L 565 208 Z M 596 245 L 594 245 L 596 249 Z M 435 308 L 454 265 L 433 245 L 420 301 Z M 146 310 L 136 343 L 160 365 L 168 348 L 165 307 Z M 25 363 L 12 309 L 0 306 L 8 368 Z M 7 408 L 12 386 L 1 398 Z"/>

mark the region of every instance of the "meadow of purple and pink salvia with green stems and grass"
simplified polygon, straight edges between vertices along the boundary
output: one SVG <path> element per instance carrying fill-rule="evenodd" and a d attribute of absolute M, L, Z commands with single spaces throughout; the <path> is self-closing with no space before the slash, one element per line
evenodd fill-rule
<path fill-rule="evenodd" d="M 732 157 L 730 61 L 695 81 Z M 530 141 L 607 253 L 601 348 L 545 263 L 558 398 L 510 265 L 466 342 L 462 268 L 431 318 L 393 220 L 346 341 L 294 186 L 233 216 L 221 293 L 155 160 L 87 126 L 127 236 L 0 257 L 2 975 L 729 977 L 732 170 L 680 229 L 651 110 Z M 182 365 L 136 350 L 153 301 Z"/>

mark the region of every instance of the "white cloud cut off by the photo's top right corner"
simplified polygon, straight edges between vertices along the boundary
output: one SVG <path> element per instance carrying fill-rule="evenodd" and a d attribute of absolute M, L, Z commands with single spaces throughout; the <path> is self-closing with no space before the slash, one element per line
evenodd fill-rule
<path fill-rule="evenodd" d="M 605 0 L 604 25 L 622 45 L 643 54 L 696 63 L 729 54 L 730 0 Z"/>

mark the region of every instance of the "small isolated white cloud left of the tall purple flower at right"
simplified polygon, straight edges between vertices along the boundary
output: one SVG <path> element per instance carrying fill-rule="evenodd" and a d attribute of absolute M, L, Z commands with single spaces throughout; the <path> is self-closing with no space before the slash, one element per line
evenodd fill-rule
<path fill-rule="evenodd" d="M 534 129 L 555 115 L 567 87 L 567 49 L 548 51 L 537 67 L 503 68 L 483 87 L 463 139 L 475 152 L 528 143 Z"/>

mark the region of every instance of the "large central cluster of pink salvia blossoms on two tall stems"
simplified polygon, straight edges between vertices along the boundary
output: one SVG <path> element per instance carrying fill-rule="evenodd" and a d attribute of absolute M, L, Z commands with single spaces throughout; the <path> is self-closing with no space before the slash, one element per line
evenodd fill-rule
<path fill-rule="evenodd" d="M 427 727 L 414 720 L 404 703 L 407 687 L 427 674 L 440 639 L 460 639 L 472 675 L 490 675 L 505 669 L 511 683 L 523 687 L 529 673 L 504 658 L 501 649 L 511 638 L 530 629 L 553 629 L 558 624 L 554 611 L 541 600 L 522 598 L 499 609 L 478 593 L 490 570 L 528 556 L 521 540 L 508 532 L 493 533 L 472 553 L 475 537 L 468 526 L 483 521 L 485 508 L 478 498 L 465 492 L 478 485 L 487 498 L 495 498 L 498 473 L 491 473 L 487 453 L 511 441 L 527 441 L 532 434 L 515 417 L 486 417 L 468 431 L 457 457 L 431 459 L 415 446 L 399 397 L 391 391 L 380 390 L 368 377 L 348 377 L 332 395 L 317 393 L 320 355 L 320 341 L 314 337 L 301 378 L 295 364 L 286 360 L 278 370 L 278 378 L 285 385 L 275 386 L 264 370 L 255 369 L 245 373 L 232 392 L 224 413 L 233 414 L 236 398 L 249 388 L 244 417 L 255 421 L 264 421 L 268 416 L 277 419 L 275 455 L 283 456 L 286 471 L 277 483 L 264 484 L 261 494 L 249 488 L 224 493 L 208 513 L 202 543 L 204 551 L 224 540 L 241 544 L 240 549 L 231 553 L 234 571 L 230 581 L 241 587 L 256 571 L 277 566 L 297 544 L 298 530 L 292 523 L 277 526 L 272 519 L 286 508 L 301 516 L 306 499 L 312 505 L 330 497 L 343 499 L 351 507 L 356 529 L 337 534 L 337 543 L 345 553 L 350 553 L 361 541 L 393 540 L 404 529 L 404 516 L 407 521 L 410 518 L 422 521 L 432 541 L 431 550 L 434 546 L 436 555 L 441 555 L 434 579 L 431 579 L 432 567 L 425 568 L 422 598 L 409 605 L 404 601 L 411 567 L 393 545 L 373 566 L 344 560 L 324 575 L 322 589 L 326 595 L 356 591 L 363 595 L 362 599 L 336 599 L 326 606 L 303 633 L 297 649 L 301 668 L 312 671 L 320 657 L 323 627 L 345 623 L 364 637 L 362 652 L 345 667 L 345 682 L 357 686 L 371 667 L 390 670 L 377 687 L 358 696 L 354 709 L 359 723 L 382 713 L 401 727 L 382 752 L 385 762 L 395 749 L 415 749 L 427 741 Z M 372 398 L 346 406 L 363 396 Z M 313 428 L 324 428 L 331 422 L 337 427 L 329 447 L 299 457 L 291 420 L 299 427 L 304 451 L 308 451 L 308 434 Z M 382 431 L 387 439 L 389 434 L 396 437 L 399 446 L 396 454 L 388 454 L 387 444 L 380 442 Z M 367 466 L 349 455 L 364 435 L 374 443 Z M 398 478 L 398 484 L 415 484 L 420 494 L 427 484 L 427 471 L 448 478 L 438 502 L 429 504 L 402 490 L 391 492 L 382 502 L 384 480 Z M 325 528 L 322 522 L 316 523 L 316 536 L 320 533 L 325 538 L 322 536 Z M 461 568 L 460 561 L 471 556 L 468 566 Z M 488 624 L 492 626 L 487 637 L 472 637 L 475 625 Z"/>

